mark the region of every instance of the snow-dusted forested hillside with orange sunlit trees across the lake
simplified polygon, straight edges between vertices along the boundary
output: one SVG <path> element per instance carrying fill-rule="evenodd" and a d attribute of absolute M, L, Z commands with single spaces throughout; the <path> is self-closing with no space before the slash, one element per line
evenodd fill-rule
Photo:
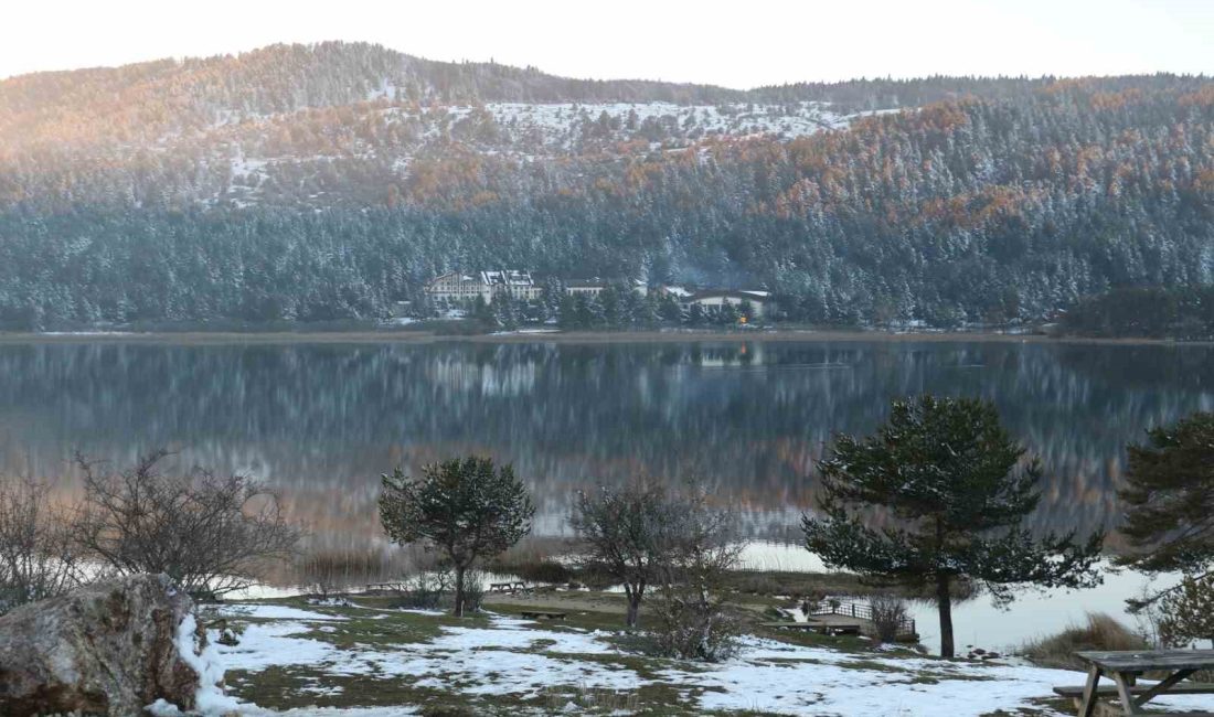
<path fill-rule="evenodd" d="M 0 81 L 0 324 L 373 319 L 447 268 L 821 324 L 1214 281 L 1214 81 L 569 80 L 370 45 Z"/>

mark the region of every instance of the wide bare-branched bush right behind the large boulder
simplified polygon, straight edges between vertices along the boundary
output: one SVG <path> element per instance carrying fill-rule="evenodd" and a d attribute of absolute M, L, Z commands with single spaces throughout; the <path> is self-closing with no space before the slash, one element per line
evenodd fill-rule
<path fill-rule="evenodd" d="M 273 493 L 203 468 L 166 476 L 168 455 L 157 450 L 112 473 L 78 455 L 85 488 L 78 545 L 119 574 L 165 573 L 186 591 L 210 594 L 253 585 L 265 560 L 294 551 L 301 530 Z"/>

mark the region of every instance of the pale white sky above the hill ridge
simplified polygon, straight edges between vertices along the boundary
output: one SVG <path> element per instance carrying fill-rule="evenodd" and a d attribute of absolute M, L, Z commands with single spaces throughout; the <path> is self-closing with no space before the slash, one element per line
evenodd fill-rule
<path fill-rule="evenodd" d="M 1214 0 L 4 0 L 0 78 L 317 40 L 731 87 L 1214 74 Z"/>

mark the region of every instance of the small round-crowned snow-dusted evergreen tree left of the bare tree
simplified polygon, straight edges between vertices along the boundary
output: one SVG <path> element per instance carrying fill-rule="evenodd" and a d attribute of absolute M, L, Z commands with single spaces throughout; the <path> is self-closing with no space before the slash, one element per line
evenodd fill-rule
<path fill-rule="evenodd" d="M 455 571 L 453 614 L 464 615 L 465 576 L 480 558 L 495 556 L 531 533 L 535 507 L 511 466 L 469 456 L 384 474 L 380 523 L 395 542 L 439 551 Z"/>

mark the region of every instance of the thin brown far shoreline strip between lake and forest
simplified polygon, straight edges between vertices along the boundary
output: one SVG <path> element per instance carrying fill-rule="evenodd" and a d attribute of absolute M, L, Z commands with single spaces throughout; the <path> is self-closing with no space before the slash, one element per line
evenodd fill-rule
<path fill-rule="evenodd" d="M 168 346 L 341 345 L 341 343 L 748 343 L 748 342 L 929 342 L 929 343 L 1057 343 L 1078 346 L 1214 346 L 1214 341 L 1175 338 L 1049 336 L 997 331 L 881 331 L 773 329 L 755 331 L 531 331 L 443 335 L 432 331 L 148 331 L 148 332 L 0 332 L 0 345 L 149 343 Z"/>

